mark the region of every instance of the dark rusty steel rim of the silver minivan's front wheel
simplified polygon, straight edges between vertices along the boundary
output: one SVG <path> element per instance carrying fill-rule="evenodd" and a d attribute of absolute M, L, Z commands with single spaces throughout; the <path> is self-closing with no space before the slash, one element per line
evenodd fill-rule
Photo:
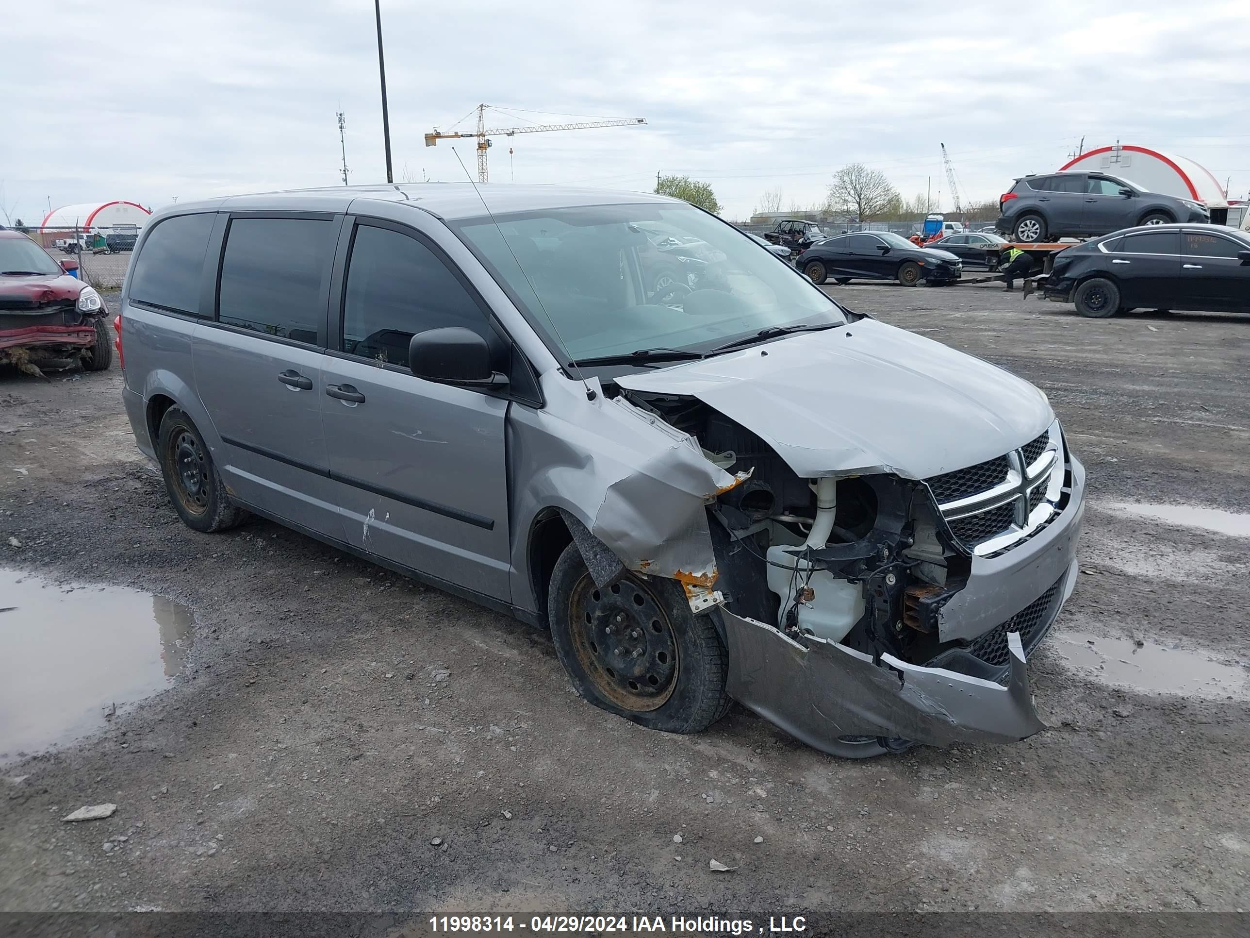
<path fill-rule="evenodd" d="M 618 707 L 646 713 L 678 685 L 678 640 L 659 600 L 641 583 L 620 579 L 599 589 L 585 574 L 569 598 L 578 663 Z"/>

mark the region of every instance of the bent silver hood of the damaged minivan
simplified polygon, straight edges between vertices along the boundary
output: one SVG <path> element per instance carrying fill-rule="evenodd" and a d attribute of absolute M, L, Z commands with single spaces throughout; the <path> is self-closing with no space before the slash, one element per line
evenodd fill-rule
<path fill-rule="evenodd" d="M 926 479 L 1002 455 L 1055 419 L 1028 381 L 872 319 L 616 383 L 698 398 L 764 438 L 804 478 Z"/>

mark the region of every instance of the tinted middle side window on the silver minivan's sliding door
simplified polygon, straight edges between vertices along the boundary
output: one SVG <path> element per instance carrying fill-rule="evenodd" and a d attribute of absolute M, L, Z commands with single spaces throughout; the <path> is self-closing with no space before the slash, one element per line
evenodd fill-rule
<path fill-rule="evenodd" d="M 221 258 L 218 319 L 314 344 L 325 319 L 322 279 L 335 225 L 320 219 L 235 218 Z"/>

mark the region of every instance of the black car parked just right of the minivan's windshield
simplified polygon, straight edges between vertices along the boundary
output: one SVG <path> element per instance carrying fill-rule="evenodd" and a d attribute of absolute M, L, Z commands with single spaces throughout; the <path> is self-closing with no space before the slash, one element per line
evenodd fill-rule
<path fill-rule="evenodd" d="M 815 284 L 832 279 L 898 280 L 904 286 L 950 284 L 962 276 L 964 265 L 954 254 L 918 248 L 891 231 L 856 231 L 811 245 L 795 261 Z"/>

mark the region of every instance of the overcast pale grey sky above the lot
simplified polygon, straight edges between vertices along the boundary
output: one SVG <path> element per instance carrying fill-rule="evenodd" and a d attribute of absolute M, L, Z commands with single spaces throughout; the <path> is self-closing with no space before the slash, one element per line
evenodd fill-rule
<path fill-rule="evenodd" d="M 49 200 L 338 184 L 340 109 L 351 181 L 385 179 L 369 0 L 9 0 L 2 20 L 2 203 L 28 223 Z M 1250 189 L 1250 0 L 382 0 L 382 26 L 396 179 L 464 180 L 422 134 L 485 101 L 515 115 L 496 126 L 648 120 L 499 139 L 494 184 L 689 174 L 729 218 L 772 188 L 819 201 L 855 161 L 908 196 L 931 179 L 949 208 L 939 143 L 974 200 L 1082 136 Z M 472 143 L 456 149 L 475 171 Z"/>

